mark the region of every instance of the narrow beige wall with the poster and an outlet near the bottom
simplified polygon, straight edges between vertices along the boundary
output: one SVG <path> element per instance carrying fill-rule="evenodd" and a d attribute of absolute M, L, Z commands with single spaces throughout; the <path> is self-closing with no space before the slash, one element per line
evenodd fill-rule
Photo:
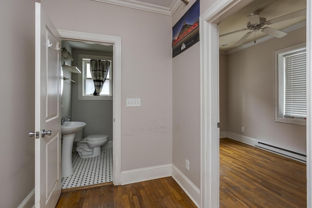
<path fill-rule="evenodd" d="M 188 6 L 181 4 L 173 15 L 172 26 Z M 173 165 L 200 188 L 200 77 L 199 42 L 173 58 Z M 185 169 L 185 160 L 190 171 Z"/>

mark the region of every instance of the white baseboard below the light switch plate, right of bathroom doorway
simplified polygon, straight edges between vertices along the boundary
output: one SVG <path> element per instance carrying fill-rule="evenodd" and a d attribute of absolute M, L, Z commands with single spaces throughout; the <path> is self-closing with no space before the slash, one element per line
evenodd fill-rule
<path fill-rule="evenodd" d="M 114 141 L 115 143 L 115 141 Z M 136 170 L 126 170 L 121 172 L 121 185 L 137 183 L 141 181 L 153 180 L 171 176 L 172 164 L 141 168 Z"/>

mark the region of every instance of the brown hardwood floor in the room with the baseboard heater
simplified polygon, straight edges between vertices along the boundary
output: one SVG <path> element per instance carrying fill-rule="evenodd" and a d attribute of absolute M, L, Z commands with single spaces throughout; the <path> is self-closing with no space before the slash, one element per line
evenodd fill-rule
<path fill-rule="evenodd" d="M 306 164 L 220 139 L 220 208 L 306 208 Z"/>

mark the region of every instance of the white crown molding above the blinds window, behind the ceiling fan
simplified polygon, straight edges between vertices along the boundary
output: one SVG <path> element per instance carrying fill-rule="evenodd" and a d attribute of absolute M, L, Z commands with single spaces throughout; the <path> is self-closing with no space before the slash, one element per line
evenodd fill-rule
<path fill-rule="evenodd" d="M 291 25 L 291 26 L 289 26 L 289 27 L 286 27 L 286 28 L 282 29 L 281 31 L 283 31 L 283 32 L 285 32 L 285 33 L 289 33 L 289 32 L 291 32 L 291 31 L 293 31 L 293 30 L 296 30 L 296 29 L 299 29 L 299 28 L 301 28 L 301 27 L 306 26 L 306 24 L 307 24 L 307 21 L 306 21 L 306 20 L 303 20 L 303 21 L 300 21 L 300 22 L 298 22 L 298 23 L 296 23 L 296 24 L 293 24 L 293 25 Z M 250 42 L 250 43 L 244 44 L 244 45 L 242 45 L 242 46 L 239 46 L 239 47 L 237 47 L 237 48 L 234 48 L 234 49 L 232 49 L 232 50 L 230 50 L 230 51 L 228 51 L 228 52 L 222 53 L 222 54 L 226 54 L 226 55 L 233 54 L 233 53 L 235 53 L 235 52 L 237 52 L 237 51 L 246 49 L 246 48 L 248 48 L 248 47 L 250 47 L 250 46 L 253 46 L 253 45 L 255 45 L 255 44 L 259 44 L 259 43 L 261 43 L 261 42 L 267 41 L 267 40 L 269 40 L 269 39 L 271 39 L 271 38 L 275 38 L 275 37 L 274 37 L 274 36 L 268 35 L 268 36 L 265 36 L 265 37 L 262 37 L 262 38 L 257 39 L 256 43 Z"/>

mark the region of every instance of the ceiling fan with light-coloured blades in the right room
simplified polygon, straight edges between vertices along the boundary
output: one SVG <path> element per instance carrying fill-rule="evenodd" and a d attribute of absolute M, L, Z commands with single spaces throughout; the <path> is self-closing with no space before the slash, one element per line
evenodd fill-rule
<path fill-rule="evenodd" d="M 236 30 L 236 31 L 233 31 L 230 33 L 226 33 L 226 34 L 220 35 L 219 37 L 231 35 L 231 34 L 234 34 L 237 32 L 245 31 L 245 30 L 251 30 L 248 33 L 246 33 L 240 40 L 238 40 L 238 42 L 235 44 L 235 46 L 242 44 L 243 41 L 246 38 L 248 38 L 252 33 L 255 33 L 259 30 L 261 30 L 261 32 L 264 32 L 264 33 L 271 35 L 271 36 L 274 36 L 276 38 L 282 38 L 282 37 L 286 36 L 287 33 L 280 31 L 280 30 L 273 29 L 271 27 L 263 27 L 263 26 L 274 24 L 274 23 L 281 22 L 281 21 L 285 21 L 288 19 L 297 18 L 300 16 L 304 16 L 304 15 L 306 15 L 307 9 L 302 9 L 302 10 L 299 10 L 296 12 L 292 12 L 292 13 L 289 13 L 287 15 L 283 15 L 283 16 L 280 16 L 280 17 L 277 17 L 277 18 L 274 18 L 274 19 L 271 19 L 268 21 L 265 18 L 262 18 L 262 17 L 260 18 L 260 12 L 261 12 L 260 10 L 256 10 L 251 15 L 247 16 L 247 18 L 249 20 L 249 22 L 247 22 L 247 28 Z M 255 42 L 255 40 L 254 40 L 254 42 Z"/>

